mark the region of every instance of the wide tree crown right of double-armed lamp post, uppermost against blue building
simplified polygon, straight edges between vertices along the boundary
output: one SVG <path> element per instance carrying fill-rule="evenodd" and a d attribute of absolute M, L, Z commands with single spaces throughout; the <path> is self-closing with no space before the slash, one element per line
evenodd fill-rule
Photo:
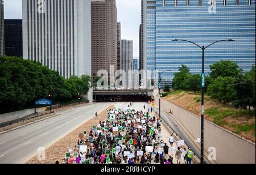
<path fill-rule="evenodd" d="M 210 78 L 216 79 L 218 76 L 226 77 L 236 77 L 238 74 L 241 74 L 236 62 L 232 61 L 223 61 L 216 62 L 213 65 L 210 65 Z"/>

